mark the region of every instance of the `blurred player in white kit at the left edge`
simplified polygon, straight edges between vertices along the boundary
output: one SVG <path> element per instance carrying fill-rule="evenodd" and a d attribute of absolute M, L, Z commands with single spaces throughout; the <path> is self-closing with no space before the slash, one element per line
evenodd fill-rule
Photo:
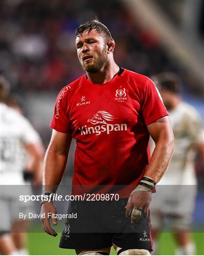
<path fill-rule="evenodd" d="M 28 221 L 19 220 L 18 217 L 19 212 L 29 212 L 32 205 L 28 203 L 22 208 L 15 191 L 18 189 L 31 194 L 27 177 L 32 177 L 33 184 L 41 184 L 44 147 L 38 133 L 22 115 L 20 98 L 17 95 L 7 95 L 8 91 L 9 82 L 0 76 L 0 175 L 1 185 L 5 185 L 0 196 L 0 253 L 27 255 Z"/>

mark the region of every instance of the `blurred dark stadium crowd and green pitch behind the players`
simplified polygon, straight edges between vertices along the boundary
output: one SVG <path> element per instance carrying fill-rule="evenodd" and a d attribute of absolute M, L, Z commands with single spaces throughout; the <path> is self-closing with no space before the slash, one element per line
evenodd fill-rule
<path fill-rule="evenodd" d="M 49 123 L 61 88 L 83 70 L 74 45 L 74 31 L 96 16 L 116 42 L 120 66 L 151 76 L 164 71 L 182 79 L 182 97 L 204 118 L 203 0 L 2 0 L 0 1 L 0 73 L 11 82 L 11 92 L 22 99 L 25 115 L 49 143 Z M 75 144 L 63 178 L 71 184 Z M 194 222 L 203 223 L 204 172 L 197 156 L 199 183 Z M 197 254 L 204 254 L 204 234 L 194 231 Z M 74 254 L 57 248 L 58 240 L 29 233 L 31 254 Z M 170 233 L 160 239 L 160 254 L 174 254 Z"/>

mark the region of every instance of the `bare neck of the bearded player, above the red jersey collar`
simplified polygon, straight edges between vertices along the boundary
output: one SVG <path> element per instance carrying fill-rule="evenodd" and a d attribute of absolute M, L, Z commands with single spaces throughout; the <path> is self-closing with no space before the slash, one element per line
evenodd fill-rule
<path fill-rule="evenodd" d="M 106 66 L 102 67 L 96 73 L 87 72 L 87 76 L 91 82 L 97 83 L 97 84 L 103 84 L 113 79 L 118 72 L 119 72 L 119 67 L 113 61 L 113 62 L 107 63 Z"/>

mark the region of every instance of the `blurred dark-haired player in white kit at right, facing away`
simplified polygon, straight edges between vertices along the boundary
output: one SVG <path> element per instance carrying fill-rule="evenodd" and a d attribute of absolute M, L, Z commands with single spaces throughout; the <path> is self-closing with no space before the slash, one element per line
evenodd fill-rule
<path fill-rule="evenodd" d="M 177 75 L 160 73 L 152 80 L 169 111 L 175 137 L 174 154 L 151 203 L 154 254 L 157 254 L 157 239 L 164 228 L 164 220 L 169 217 L 177 243 L 176 254 L 194 255 L 195 244 L 189 232 L 197 188 L 196 152 L 199 151 L 204 159 L 202 119 L 194 107 L 181 100 L 181 82 Z"/>

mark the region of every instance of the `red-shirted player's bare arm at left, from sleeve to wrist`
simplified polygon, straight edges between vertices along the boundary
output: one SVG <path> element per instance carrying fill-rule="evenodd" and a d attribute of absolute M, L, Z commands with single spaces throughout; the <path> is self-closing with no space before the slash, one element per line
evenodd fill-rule
<path fill-rule="evenodd" d="M 44 157 L 43 191 L 56 192 L 67 164 L 71 136 L 53 129 Z"/>

